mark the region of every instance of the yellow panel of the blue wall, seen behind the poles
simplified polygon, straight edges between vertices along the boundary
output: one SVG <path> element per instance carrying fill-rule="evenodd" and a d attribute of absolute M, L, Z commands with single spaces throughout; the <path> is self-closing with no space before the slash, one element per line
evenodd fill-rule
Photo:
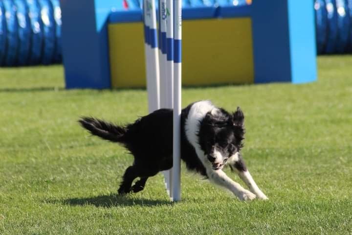
<path fill-rule="evenodd" d="M 253 83 L 250 18 L 182 24 L 182 85 Z M 145 86 L 142 23 L 110 24 L 112 87 Z"/>

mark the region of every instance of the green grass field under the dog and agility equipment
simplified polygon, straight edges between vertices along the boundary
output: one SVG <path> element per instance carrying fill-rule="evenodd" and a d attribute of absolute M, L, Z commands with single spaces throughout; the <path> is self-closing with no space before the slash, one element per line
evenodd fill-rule
<path fill-rule="evenodd" d="M 244 159 L 268 201 L 243 203 L 182 165 L 117 196 L 132 157 L 77 119 L 130 122 L 144 90 L 64 90 L 63 68 L 0 69 L 0 234 L 352 234 L 352 56 L 319 57 L 318 82 L 185 88 L 245 114 Z M 229 169 L 225 170 L 243 185 Z"/>

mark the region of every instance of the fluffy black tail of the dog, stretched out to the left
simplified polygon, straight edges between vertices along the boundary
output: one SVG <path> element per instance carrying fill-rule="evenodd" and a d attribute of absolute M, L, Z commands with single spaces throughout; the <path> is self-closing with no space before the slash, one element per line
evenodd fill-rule
<path fill-rule="evenodd" d="M 124 135 L 127 132 L 125 127 L 116 126 L 110 122 L 88 117 L 82 117 L 78 122 L 92 135 L 112 142 L 124 142 Z"/>

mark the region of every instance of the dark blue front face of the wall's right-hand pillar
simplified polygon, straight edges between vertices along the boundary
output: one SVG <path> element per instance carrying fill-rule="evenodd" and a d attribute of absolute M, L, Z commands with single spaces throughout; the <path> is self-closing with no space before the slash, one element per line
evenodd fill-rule
<path fill-rule="evenodd" d="M 287 0 L 253 1 L 252 32 L 255 83 L 290 82 Z"/>

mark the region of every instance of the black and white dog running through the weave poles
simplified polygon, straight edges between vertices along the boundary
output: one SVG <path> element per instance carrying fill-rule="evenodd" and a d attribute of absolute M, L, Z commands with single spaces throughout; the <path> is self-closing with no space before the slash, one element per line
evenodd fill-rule
<path fill-rule="evenodd" d="M 229 189 L 240 200 L 267 199 L 247 170 L 241 156 L 244 135 L 240 108 L 230 114 L 210 101 L 190 104 L 181 113 L 181 159 L 190 170 Z M 81 125 L 91 134 L 123 144 L 134 162 L 126 169 L 119 194 L 143 190 L 149 177 L 173 165 L 173 111 L 159 109 L 126 126 L 96 118 L 82 118 Z M 231 180 L 222 168 L 228 164 L 249 190 Z M 132 186 L 134 179 L 140 179 Z"/>

